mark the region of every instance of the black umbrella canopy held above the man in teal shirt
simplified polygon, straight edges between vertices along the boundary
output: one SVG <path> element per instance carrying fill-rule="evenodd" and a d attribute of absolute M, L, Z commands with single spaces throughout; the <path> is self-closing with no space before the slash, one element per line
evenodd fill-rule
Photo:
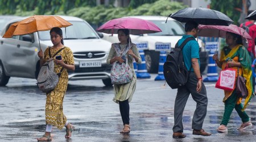
<path fill-rule="evenodd" d="M 169 15 L 172 19 L 186 23 L 193 20 L 198 24 L 229 26 L 233 20 L 220 11 L 205 8 L 185 8 Z"/>

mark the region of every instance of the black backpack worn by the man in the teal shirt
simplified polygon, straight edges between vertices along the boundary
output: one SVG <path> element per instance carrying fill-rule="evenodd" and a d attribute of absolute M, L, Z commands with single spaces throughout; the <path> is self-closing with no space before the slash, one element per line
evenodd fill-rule
<path fill-rule="evenodd" d="M 184 64 L 182 49 L 190 40 L 195 40 L 195 38 L 188 37 L 180 46 L 176 43 L 174 51 L 171 51 L 167 55 L 166 62 L 164 62 L 164 78 L 172 89 L 183 86 L 188 81 L 189 72 Z M 191 68 L 189 70 L 191 70 Z"/>

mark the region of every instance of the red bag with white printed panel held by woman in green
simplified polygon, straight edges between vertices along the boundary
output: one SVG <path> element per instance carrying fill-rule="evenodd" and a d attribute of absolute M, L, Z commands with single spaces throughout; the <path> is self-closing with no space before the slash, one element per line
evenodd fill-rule
<path fill-rule="evenodd" d="M 221 70 L 220 77 L 215 85 L 218 89 L 232 91 L 236 88 L 236 74 L 237 70 L 232 68 L 227 68 Z"/>

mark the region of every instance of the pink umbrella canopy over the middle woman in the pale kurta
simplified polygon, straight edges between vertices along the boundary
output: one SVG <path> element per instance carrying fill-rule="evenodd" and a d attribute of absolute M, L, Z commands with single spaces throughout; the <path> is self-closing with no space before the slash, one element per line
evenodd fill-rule
<path fill-rule="evenodd" d="M 104 32 L 106 34 L 117 34 L 118 29 L 129 29 L 130 34 L 151 34 L 155 32 L 162 32 L 154 23 L 139 18 L 118 18 L 109 20 L 96 31 Z"/>

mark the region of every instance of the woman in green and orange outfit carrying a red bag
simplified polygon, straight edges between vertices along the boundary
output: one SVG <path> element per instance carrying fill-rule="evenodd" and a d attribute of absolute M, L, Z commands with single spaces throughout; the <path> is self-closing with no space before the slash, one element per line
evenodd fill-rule
<path fill-rule="evenodd" d="M 247 49 L 242 45 L 242 37 L 240 35 L 234 34 L 232 32 L 226 33 L 226 43 L 228 47 L 224 47 L 221 51 L 220 60 L 218 60 L 217 55 L 213 56 L 213 60 L 216 61 L 216 64 L 224 70 L 226 66 L 233 69 L 239 69 L 239 74 L 246 78 L 246 88 L 248 90 L 248 96 L 245 99 L 245 104 L 242 105 L 241 100 L 236 94 L 236 89 L 233 91 L 224 90 L 225 97 L 223 102 L 225 103 L 225 111 L 221 121 L 220 127 L 218 127 L 218 132 L 227 132 L 226 128 L 230 115 L 235 108 L 238 115 L 242 119 L 242 124 L 238 128 L 238 130 L 245 130 L 246 128 L 250 128 L 252 124 L 250 123 L 250 118 L 245 112 L 245 108 L 253 96 L 253 82 L 251 76 L 251 59 Z M 230 57 L 230 61 L 226 61 Z M 236 74 L 236 80 L 237 80 Z"/>

